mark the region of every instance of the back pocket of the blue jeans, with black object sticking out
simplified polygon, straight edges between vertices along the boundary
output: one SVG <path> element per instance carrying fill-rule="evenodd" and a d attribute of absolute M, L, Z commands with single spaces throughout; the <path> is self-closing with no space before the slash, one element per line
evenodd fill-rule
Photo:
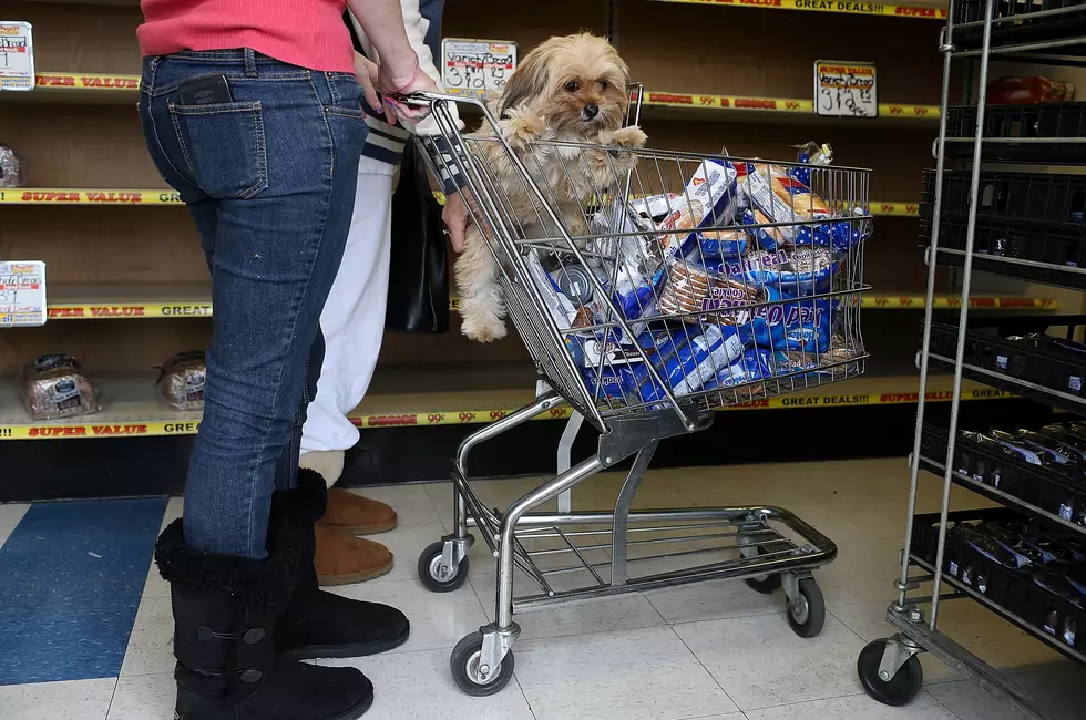
<path fill-rule="evenodd" d="M 194 184 L 212 197 L 246 199 L 268 187 L 260 102 L 167 103 Z"/>

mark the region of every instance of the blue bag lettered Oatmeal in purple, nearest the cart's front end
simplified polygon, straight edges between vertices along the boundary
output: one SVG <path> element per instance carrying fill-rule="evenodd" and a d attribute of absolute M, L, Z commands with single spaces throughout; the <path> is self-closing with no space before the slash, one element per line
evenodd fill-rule
<path fill-rule="evenodd" d="M 751 254 L 739 260 L 710 260 L 705 266 L 768 291 L 769 299 L 792 299 L 829 292 L 838 261 L 824 248 L 791 248 Z"/>

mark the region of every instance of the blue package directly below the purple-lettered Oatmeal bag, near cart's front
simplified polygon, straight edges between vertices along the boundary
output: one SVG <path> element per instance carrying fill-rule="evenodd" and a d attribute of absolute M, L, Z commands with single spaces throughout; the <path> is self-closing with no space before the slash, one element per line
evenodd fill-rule
<path fill-rule="evenodd" d="M 736 327 L 746 346 L 821 354 L 831 346 L 831 308 L 827 298 L 764 305 Z"/>

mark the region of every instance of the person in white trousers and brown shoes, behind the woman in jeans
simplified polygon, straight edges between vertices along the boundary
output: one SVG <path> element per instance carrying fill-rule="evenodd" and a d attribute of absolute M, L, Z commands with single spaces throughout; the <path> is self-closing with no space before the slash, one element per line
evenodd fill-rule
<path fill-rule="evenodd" d="M 443 0 L 401 0 L 401 6 L 420 71 L 440 86 L 433 56 Z M 349 13 L 345 20 L 356 49 L 375 59 L 361 25 Z M 396 512 L 385 503 L 331 487 L 342 474 L 344 452 L 358 442 L 358 429 L 347 413 L 369 389 L 385 335 L 392 192 L 403 148 L 411 142 L 411 132 L 390 125 L 365 103 L 363 109 L 369 135 L 358 164 L 347 249 L 320 316 L 325 359 L 301 438 L 301 466 L 320 473 L 329 486 L 328 510 L 317 524 L 314 563 L 321 585 L 358 583 L 388 573 L 392 568 L 388 548 L 356 535 L 382 533 L 397 524 Z M 432 135 L 437 125 L 433 119 L 427 119 L 409 130 Z M 467 210 L 457 197 L 447 206 L 444 217 L 452 228 L 459 229 L 463 225 L 461 215 L 465 217 Z M 462 230 L 457 235 L 459 240 Z"/>

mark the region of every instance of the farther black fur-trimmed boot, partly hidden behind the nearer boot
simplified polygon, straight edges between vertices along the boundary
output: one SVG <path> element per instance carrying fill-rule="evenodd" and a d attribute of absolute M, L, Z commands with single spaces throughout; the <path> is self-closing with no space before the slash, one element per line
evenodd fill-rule
<path fill-rule="evenodd" d="M 293 528 L 301 558 L 298 584 L 290 604 L 275 627 L 279 657 L 356 658 L 399 647 L 411 635 L 411 624 L 393 607 L 363 603 L 327 593 L 317 586 L 314 523 L 325 514 L 328 488 L 317 472 L 303 467 L 297 490 L 272 496 L 272 516 L 283 516 Z"/>

